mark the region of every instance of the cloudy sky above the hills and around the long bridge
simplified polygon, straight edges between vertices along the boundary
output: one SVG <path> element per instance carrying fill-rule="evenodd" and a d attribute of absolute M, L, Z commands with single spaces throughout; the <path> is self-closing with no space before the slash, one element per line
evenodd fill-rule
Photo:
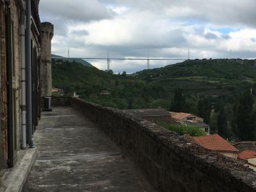
<path fill-rule="evenodd" d="M 41 0 L 52 53 L 70 57 L 256 58 L 255 0 Z M 148 52 L 148 53 L 147 53 Z M 102 70 L 107 61 L 89 61 Z M 172 62 L 152 61 L 150 68 Z M 111 61 L 136 72 L 147 61 Z"/>

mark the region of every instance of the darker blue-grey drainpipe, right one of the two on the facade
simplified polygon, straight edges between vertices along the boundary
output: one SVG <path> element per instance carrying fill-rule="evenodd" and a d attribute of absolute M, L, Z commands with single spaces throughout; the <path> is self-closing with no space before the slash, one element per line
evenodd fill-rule
<path fill-rule="evenodd" d="M 26 0 L 26 104 L 27 138 L 29 148 L 35 148 L 32 140 L 32 79 L 31 79 L 31 0 Z"/>

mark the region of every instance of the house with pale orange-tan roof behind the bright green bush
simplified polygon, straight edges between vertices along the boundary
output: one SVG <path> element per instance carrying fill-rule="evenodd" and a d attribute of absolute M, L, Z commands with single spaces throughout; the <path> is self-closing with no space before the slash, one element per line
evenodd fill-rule
<path fill-rule="evenodd" d="M 204 123 L 204 118 L 190 114 L 190 113 L 176 113 L 170 112 L 173 122 L 177 124 L 186 124 L 200 127 L 206 134 L 210 134 L 210 126 Z"/>

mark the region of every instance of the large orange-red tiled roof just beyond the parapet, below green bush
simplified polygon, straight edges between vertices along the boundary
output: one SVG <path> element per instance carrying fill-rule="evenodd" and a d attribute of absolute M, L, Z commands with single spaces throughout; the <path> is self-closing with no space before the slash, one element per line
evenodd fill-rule
<path fill-rule="evenodd" d="M 221 136 L 219 136 L 218 134 L 195 137 L 185 135 L 184 139 L 191 143 L 197 143 L 198 145 L 209 150 L 214 150 L 218 152 L 238 152 L 238 150 L 233 145 L 221 138 Z"/>

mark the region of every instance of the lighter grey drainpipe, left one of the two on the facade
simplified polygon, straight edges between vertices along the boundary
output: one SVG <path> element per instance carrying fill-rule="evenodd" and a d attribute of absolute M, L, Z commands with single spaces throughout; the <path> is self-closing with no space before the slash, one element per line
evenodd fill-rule
<path fill-rule="evenodd" d="M 23 3 L 23 2 L 22 2 Z M 27 148 L 26 129 L 26 46 L 25 46 L 25 10 L 20 12 L 20 86 L 21 86 L 21 149 Z"/>

